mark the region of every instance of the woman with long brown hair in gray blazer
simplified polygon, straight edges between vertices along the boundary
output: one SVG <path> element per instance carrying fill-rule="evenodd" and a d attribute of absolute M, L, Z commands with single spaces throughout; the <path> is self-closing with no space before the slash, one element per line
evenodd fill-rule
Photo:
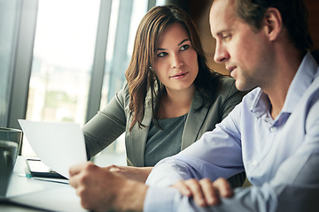
<path fill-rule="evenodd" d="M 159 160 L 213 130 L 244 95 L 207 67 L 195 25 L 173 5 L 144 16 L 125 75 L 127 85 L 83 132 L 89 158 L 125 132 L 128 165 L 145 168 L 113 170 L 142 181 Z"/>

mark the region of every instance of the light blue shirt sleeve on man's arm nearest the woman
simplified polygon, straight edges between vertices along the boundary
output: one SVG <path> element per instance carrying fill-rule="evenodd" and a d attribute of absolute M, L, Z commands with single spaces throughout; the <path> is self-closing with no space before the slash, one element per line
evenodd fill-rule
<path fill-rule="evenodd" d="M 146 185 L 171 186 L 180 179 L 230 178 L 244 170 L 237 107 L 212 132 L 204 133 L 197 142 L 179 154 L 160 161 L 152 170 Z M 230 132 L 229 129 L 235 129 Z"/>

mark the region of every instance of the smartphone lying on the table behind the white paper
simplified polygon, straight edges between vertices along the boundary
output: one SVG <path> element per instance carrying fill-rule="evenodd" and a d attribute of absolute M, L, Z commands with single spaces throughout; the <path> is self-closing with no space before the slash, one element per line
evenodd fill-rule
<path fill-rule="evenodd" d="M 32 177 L 36 178 L 64 178 L 58 172 L 51 170 L 50 167 L 45 165 L 40 159 L 26 159 L 27 170 Z"/>

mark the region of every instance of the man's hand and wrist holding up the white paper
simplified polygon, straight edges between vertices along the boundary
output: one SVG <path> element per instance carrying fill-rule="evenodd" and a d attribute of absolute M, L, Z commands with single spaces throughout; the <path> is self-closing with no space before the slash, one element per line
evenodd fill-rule
<path fill-rule="evenodd" d="M 69 183 L 80 196 L 83 208 L 94 211 L 143 210 L 147 191 L 144 184 L 93 163 L 76 165 L 69 172 Z"/>

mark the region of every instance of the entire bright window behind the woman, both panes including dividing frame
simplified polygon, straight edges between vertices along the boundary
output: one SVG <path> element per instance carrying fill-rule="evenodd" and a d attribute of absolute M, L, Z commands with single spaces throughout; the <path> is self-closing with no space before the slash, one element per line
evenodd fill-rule
<path fill-rule="evenodd" d="M 136 28 L 155 4 L 163 1 L 38 0 L 26 118 L 84 125 L 104 108 L 124 84 Z M 125 154 L 123 138 L 105 152 Z M 22 154 L 33 155 L 27 140 Z"/>

